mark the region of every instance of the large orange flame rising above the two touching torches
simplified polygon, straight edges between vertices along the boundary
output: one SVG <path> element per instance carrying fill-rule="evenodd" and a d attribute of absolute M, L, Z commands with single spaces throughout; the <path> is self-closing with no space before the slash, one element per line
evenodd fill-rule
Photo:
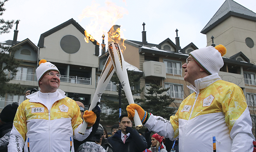
<path fill-rule="evenodd" d="M 126 5 L 125 0 L 123 0 L 123 3 Z M 78 17 L 80 21 L 82 21 L 83 18 L 91 18 L 89 25 L 87 25 L 85 28 L 85 42 L 88 43 L 89 40 L 99 41 L 102 39 L 102 34 L 108 34 L 108 29 L 115 25 L 118 19 L 123 18 L 124 14 L 128 14 L 127 9 L 117 6 L 113 2 L 106 1 L 105 6 L 100 7 L 100 4 L 96 4 L 95 1 L 92 1 L 91 6 L 85 7 L 85 9 L 82 11 L 82 14 L 80 14 Z M 125 29 L 122 28 L 122 30 Z M 109 30 L 109 32 L 112 32 L 112 30 Z M 123 32 L 120 30 L 120 28 L 118 32 L 114 33 L 118 33 L 117 35 L 115 34 L 116 37 L 118 37 L 118 35 L 119 37 L 123 36 Z M 93 37 L 91 35 L 93 35 Z M 121 43 L 119 44 L 122 46 Z"/>

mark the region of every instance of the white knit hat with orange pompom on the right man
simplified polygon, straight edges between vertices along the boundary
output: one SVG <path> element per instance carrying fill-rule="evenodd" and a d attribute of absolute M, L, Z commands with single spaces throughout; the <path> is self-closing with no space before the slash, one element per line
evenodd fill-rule
<path fill-rule="evenodd" d="M 191 57 L 210 75 L 220 72 L 224 62 L 222 56 L 225 55 L 227 49 L 223 45 L 207 46 L 189 53 Z"/>

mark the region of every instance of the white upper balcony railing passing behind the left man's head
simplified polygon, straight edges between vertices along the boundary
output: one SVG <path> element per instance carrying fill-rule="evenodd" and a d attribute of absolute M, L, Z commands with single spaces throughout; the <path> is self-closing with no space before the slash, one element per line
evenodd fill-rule
<path fill-rule="evenodd" d="M 36 73 L 32 72 L 17 72 L 15 76 L 9 71 L 4 71 L 7 74 L 7 78 L 13 78 L 13 80 L 24 80 L 24 81 L 37 81 Z M 91 78 L 82 78 L 77 76 L 61 76 L 61 82 L 68 82 L 68 83 L 79 83 L 85 85 L 91 85 Z"/>

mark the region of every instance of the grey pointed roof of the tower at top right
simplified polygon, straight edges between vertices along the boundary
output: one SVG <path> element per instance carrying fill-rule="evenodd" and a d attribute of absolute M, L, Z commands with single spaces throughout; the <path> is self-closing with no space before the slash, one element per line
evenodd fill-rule
<path fill-rule="evenodd" d="M 211 20 L 205 25 L 203 30 L 201 31 L 202 34 L 206 34 L 212 28 L 216 27 L 225 19 L 229 18 L 230 16 L 236 16 L 239 18 L 249 19 L 252 21 L 256 21 L 256 13 L 252 12 L 251 10 L 243 7 L 242 5 L 234 2 L 233 0 L 226 0 L 220 9 L 214 14 Z"/>

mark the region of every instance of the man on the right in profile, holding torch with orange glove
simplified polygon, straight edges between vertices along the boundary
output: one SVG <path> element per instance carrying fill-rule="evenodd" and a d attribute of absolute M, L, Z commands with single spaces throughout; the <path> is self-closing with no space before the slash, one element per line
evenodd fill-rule
<path fill-rule="evenodd" d="M 184 80 L 194 93 L 182 101 L 170 120 L 144 111 L 138 104 L 126 110 L 130 119 L 134 109 L 142 124 L 165 138 L 179 138 L 179 152 L 252 152 L 252 121 L 243 90 L 218 75 L 226 48 L 208 46 L 189 53 Z M 143 106 L 143 105 L 142 105 Z"/>

